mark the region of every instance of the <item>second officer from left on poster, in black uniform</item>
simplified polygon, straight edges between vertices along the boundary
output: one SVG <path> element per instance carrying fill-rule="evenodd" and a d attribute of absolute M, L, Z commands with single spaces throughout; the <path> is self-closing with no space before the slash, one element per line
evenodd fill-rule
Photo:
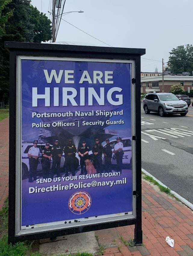
<path fill-rule="evenodd" d="M 43 179 L 49 178 L 51 160 L 51 148 L 50 144 L 46 143 L 45 148 L 42 150 L 42 176 Z"/>

